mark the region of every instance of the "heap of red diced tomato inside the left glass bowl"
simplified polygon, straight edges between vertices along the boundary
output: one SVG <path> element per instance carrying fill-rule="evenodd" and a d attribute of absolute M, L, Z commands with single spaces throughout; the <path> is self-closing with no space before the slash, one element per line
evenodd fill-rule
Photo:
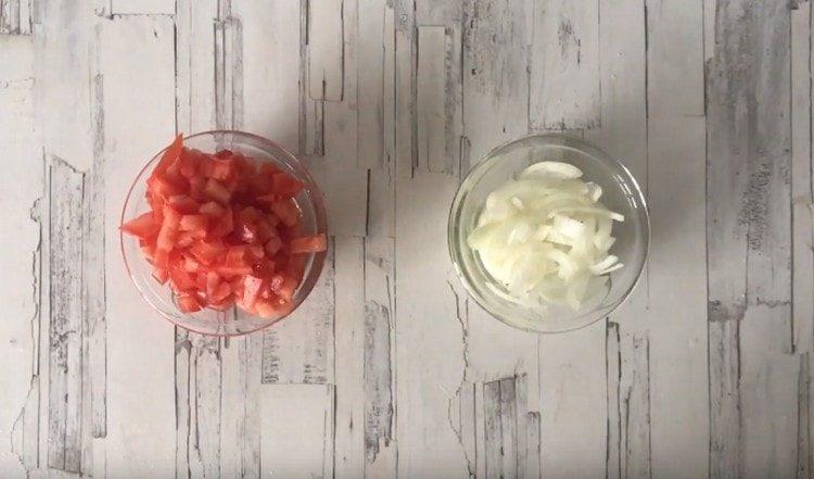
<path fill-rule="evenodd" d="M 328 245 L 301 228 L 294 198 L 305 188 L 270 162 L 185 148 L 179 136 L 148 179 L 150 211 L 120 228 L 182 312 L 238 305 L 278 318 L 295 306 L 307 253 Z"/>

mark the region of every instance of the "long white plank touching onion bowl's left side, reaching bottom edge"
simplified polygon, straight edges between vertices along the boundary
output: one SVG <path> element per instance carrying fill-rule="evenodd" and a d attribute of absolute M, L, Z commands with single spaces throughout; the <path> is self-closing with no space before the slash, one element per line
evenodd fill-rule
<path fill-rule="evenodd" d="M 444 242 L 446 211 L 434 205 L 447 204 L 456 187 L 453 177 L 418 172 L 414 180 L 396 182 L 396 441 L 404 477 L 467 475 L 447 409 L 465 368 L 461 329 L 453 320 L 455 297 L 442 293 L 449 288 L 446 252 L 424 247 Z M 424 361 L 416 361 L 417 351 Z"/>

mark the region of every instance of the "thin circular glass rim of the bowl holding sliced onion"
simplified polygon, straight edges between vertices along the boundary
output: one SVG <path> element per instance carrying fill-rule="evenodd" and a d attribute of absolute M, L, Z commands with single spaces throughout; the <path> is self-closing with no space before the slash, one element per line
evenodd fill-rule
<path fill-rule="evenodd" d="M 520 143 L 520 142 L 523 142 L 523 141 L 529 141 L 531 139 L 539 139 L 539 140 L 543 140 L 543 141 L 546 141 L 546 140 L 557 140 L 558 141 L 557 146 L 559 146 L 559 147 L 568 147 L 568 148 L 573 148 L 573 144 L 572 146 L 568 146 L 568 144 L 565 144 L 567 142 L 574 142 L 574 143 L 576 143 L 580 149 L 587 150 L 586 152 L 588 154 L 592 153 L 590 150 L 594 150 L 594 152 L 598 152 L 599 153 L 598 156 L 594 155 L 594 154 L 592 154 L 592 156 L 596 156 L 600 161 L 608 161 L 613 166 L 619 167 L 622 171 L 622 173 L 626 176 L 626 179 L 629 180 L 629 185 L 633 188 L 633 192 L 634 192 L 635 197 L 637 198 L 637 200 L 639 200 L 641 202 L 641 211 L 644 212 L 644 214 L 641 215 L 641 219 L 643 219 L 643 222 L 641 222 L 641 227 L 643 227 L 643 243 L 644 243 L 644 245 L 643 245 L 641 262 L 640 262 L 640 264 L 637 265 L 637 270 L 635 272 L 636 273 L 635 279 L 631 282 L 631 285 L 627 287 L 627 289 L 620 295 L 620 298 L 618 300 L 615 300 L 614 302 L 611 302 L 608 305 L 605 305 L 605 306 L 597 307 L 595 310 L 585 312 L 582 315 L 576 316 L 576 317 L 577 318 L 580 318 L 580 317 L 589 317 L 593 313 L 598 312 L 600 310 L 607 310 L 606 313 L 599 314 L 599 315 L 597 315 L 596 318 L 593 318 L 593 319 L 590 319 L 588 322 L 585 322 L 585 323 L 580 323 L 580 324 L 577 324 L 575 326 L 570 326 L 570 327 L 564 327 L 564 328 L 552 328 L 552 329 L 538 329 L 538 328 L 532 328 L 532 327 L 521 326 L 521 325 L 518 325 L 518 324 L 514 324 L 514 323 L 511 323 L 511 322 L 505 319 L 501 315 L 499 315 L 498 313 L 496 313 L 494 311 L 494 308 L 492 307 L 492 305 L 488 304 L 488 302 L 485 301 L 485 299 L 482 298 L 474 290 L 474 287 L 472 286 L 471 279 L 469 277 L 470 275 L 469 275 L 468 269 L 465 268 L 465 267 L 462 267 L 462 265 L 460 264 L 461 262 L 458 261 L 458 254 L 459 253 L 458 253 L 458 247 L 455 245 L 455 239 L 458 236 L 460 236 L 457 232 L 457 230 L 460 229 L 460 228 L 458 228 L 458 222 L 457 222 L 458 218 L 457 218 L 457 216 L 458 216 L 458 213 L 461 210 L 461 205 L 463 204 L 463 199 L 466 198 L 466 194 L 467 194 L 467 192 L 463 191 L 463 185 L 467 182 L 468 179 L 470 179 L 475 174 L 480 174 L 481 172 L 484 172 L 484 171 L 488 169 L 489 167 L 492 167 L 493 164 L 495 164 L 498 161 L 498 159 L 499 159 L 499 156 L 496 155 L 496 153 L 498 151 L 500 151 L 503 149 L 506 149 L 506 148 L 508 148 L 508 147 L 510 147 L 510 146 L 512 146 L 514 143 Z M 560 333 L 560 332 L 569 332 L 569 331 L 575 331 L 577 329 L 586 328 L 586 327 L 588 327 L 588 326 L 590 326 L 590 325 L 599 322 L 602 318 L 609 317 L 614 311 L 616 311 L 616 308 L 631 297 L 631 294 L 633 293 L 633 291 L 636 289 L 636 286 L 641 280 L 643 272 L 644 272 L 645 266 L 647 265 L 647 263 L 649 261 L 650 239 L 651 239 L 651 231 L 650 231 L 650 210 L 649 210 L 649 206 L 648 206 L 648 203 L 647 203 L 647 197 L 646 197 L 645 192 L 643 191 L 643 189 L 641 189 L 638 180 L 636 179 L 636 177 L 633 175 L 633 173 L 629 171 L 629 168 L 627 166 L 625 166 L 625 164 L 622 163 L 620 160 L 621 160 L 621 157 L 620 159 L 614 159 L 607 151 L 605 151 L 603 149 L 599 148 L 599 146 L 597 146 L 593 141 L 586 140 L 586 139 L 581 138 L 581 137 L 576 137 L 574 135 L 569 135 L 569 134 L 565 134 L 565 133 L 543 133 L 543 134 L 524 135 L 522 137 L 518 137 L 518 138 L 511 139 L 511 140 L 504 141 L 503 143 L 494 147 L 488 152 L 486 152 L 483 156 L 481 156 L 481 159 L 478 161 L 478 163 L 475 163 L 474 166 L 472 166 L 470 168 L 470 171 L 466 174 L 466 176 L 463 176 L 461 178 L 461 180 L 460 180 L 460 182 L 458 185 L 458 189 L 455 192 L 455 197 L 453 199 L 453 202 L 451 202 L 451 204 L 449 206 L 449 216 L 447 218 L 447 248 L 448 248 L 448 252 L 449 252 L 449 257 L 450 257 L 450 260 L 453 262 L 453 266 L 454 266 L 455 273 L 457 274 L 460 282 L 463 285 L 463 288 L 467 290 L 467 293 L 469 294 L 469 297 L 472 298 L 475 301 L 475 303 L 478 303 L 486 313 L 488 313 L 489 316 L 492 316 L 493 318 L 497 319 L 498 322 L 500 322 L 500 323 L 503 323 L 503 324 L 505 324 L 507 326 L 510 326 L 512 328 L 516 328 L 516 329 L 520 329 L 520 330 L 527 331 L 527 332 L 535 332 L 535 333 L 538 333 L 538 335 L 556 335 L 556 333 Z"/>

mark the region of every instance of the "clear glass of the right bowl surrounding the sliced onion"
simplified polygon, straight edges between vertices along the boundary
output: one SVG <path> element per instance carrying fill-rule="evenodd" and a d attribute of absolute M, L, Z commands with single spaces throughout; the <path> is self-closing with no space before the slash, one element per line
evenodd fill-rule
<path fill-rule="evenodd" d="M 603 298 L 580 311 L 556 304 L 535 307 L 504 298 L 508 291 L 491 278 L 467 244 L 486 197 L 529 165 L 544 160 L 571 163 L 582 169 L 584 180 L 602 187 L 602 202 L 625 216 L 624 222 L 614 222 L 616 242 L 611 248 L 624 267 L 610 274 L 610 288 Z M 649 239 L 645 197 L 631 172 L 596 146 L 559 134 L 533 135 L 492 150 L 463 179 L 449 212 L 449 253 L 469 294 L 503 323 L 536 332 L 577 329 L 608 316 L 633 291 L 645 265 Z"/>

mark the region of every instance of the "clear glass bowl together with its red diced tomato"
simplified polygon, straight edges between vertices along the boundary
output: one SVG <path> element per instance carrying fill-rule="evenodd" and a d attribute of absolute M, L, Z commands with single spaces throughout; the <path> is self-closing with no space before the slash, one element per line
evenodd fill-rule
<path fill-rule="evenodd" d="M 279 144 L 242 131 L 179 137 L 153 156 L 128 191 L 120 229 L 142 298 L 205 335 L 244 335 L 288 316 L 326 257 L 314 179 Z"/>

